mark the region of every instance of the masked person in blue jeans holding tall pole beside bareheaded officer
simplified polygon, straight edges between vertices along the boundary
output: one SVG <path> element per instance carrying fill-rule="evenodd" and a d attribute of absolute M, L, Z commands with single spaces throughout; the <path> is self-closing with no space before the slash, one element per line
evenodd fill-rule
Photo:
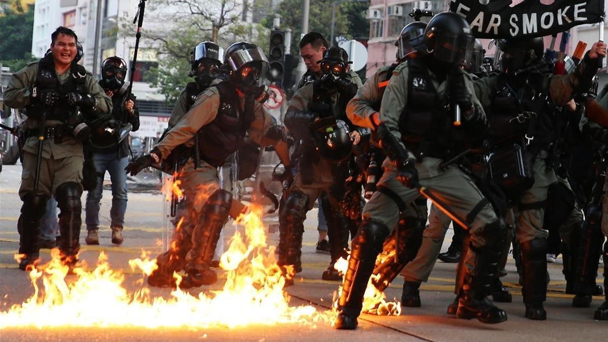
<path fill-rule="evenodd" d="M 99 85 L 102 86 L 106 95 L 112 99 L 112 119 L 113 126 L 121 130 L 125 125 L 128 134 L 129 128 L 132 131 L 139 130 L 139 109 L 135 103 L 135 96 L 128 91 L 129 84 L 125 82 L 126 62 L 118 56 L 106 58 L 102 63 L 102 79 Z M 99 201 L 103 194 L 103 175 L 106 170 L 112 180 L 112 208 L 110 209 L 110 229 L 112 230 L 112 243 L 120 245 L 123 242 L 122 229 L 125 222 L 126 211 L 126 174 L 124 169 L 128 164 L 129 141 L 122 139 L 119 144 L 109 142 L 109 146 L 98 145 L 93 142 L 90 150 L 92 162 L 95 166 L 95 186 L 90 189 L 86 196 L 86 229 L 87 245 L 98 245 L 99 229 Z"/>

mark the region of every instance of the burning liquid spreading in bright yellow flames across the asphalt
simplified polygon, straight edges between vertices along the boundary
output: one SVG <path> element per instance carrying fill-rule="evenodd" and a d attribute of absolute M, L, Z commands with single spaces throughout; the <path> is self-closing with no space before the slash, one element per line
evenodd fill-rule
<path fill-rule="evenodd" d="M 313 305 L 289 305 L 289 295 L 283 291 L 285 278 L 274 256 L 275 247 L 266 243 L 260 212 L 251 211 L 237 218 L 237 224 L 244 227 L 244 236 L 237 231 L 228 250 L 221 256 L 220 267 L 227 273 L 221 290 L 209 290 L 194 296 L 178 286 L 168 299 L 151 296 L 147 287 L 129 293 L 122 285 L 123 273 L 109 267 L 103 252 L 94 270 L 75 267 L 72 270 L 75 276 L 68 276 L 69 268 L 61 265 L 58 250 L 52 250 L 52 260 L 29 273 L 33 295 L 22 304 L 1 312 L 0 328 L 128 326 L 199 329 L 286 323 L 311 327 L 318 323 L 331 324 L 336 316 L 335 310 L 320 312 Z M 142 258 L 129 263 L 133 270 L 140 270 L 143 274 L 150 274 L 157 267 L 156 259 L 149 259 L 145 253 Z M 174 276 L 179 283 L 179 274 Z M 142 284 L 143 281 L 142 278 Z M 378 294 L 371 293 L 378 300 Z M 384 302 L 384 296 L 381 297 Z M 378 307 L 370 304 L 369 300 L 372 299 L 367 300 L 365 308 Z M 396 307 L 400 309 L 398 304 Z M 399 314 L 384 309 L 378 311 L 375 313 Z"/>

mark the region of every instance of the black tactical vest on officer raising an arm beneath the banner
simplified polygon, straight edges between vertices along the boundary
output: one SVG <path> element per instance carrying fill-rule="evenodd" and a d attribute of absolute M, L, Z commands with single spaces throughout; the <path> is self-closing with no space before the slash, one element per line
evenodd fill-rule
<path fill-rule="evenodd" d="M 488 113 L 488 138 L 492 144 L 521 144 L 526 136 L 533 138 L 529 145 L 536 149 L 546 149 L 553 142 L 556 108 L 547 95 L 548 89 L 542 85 L 546 77 L 542 73 L 530 74 L 528 81 L 516 88 L 499 76 Z"/>

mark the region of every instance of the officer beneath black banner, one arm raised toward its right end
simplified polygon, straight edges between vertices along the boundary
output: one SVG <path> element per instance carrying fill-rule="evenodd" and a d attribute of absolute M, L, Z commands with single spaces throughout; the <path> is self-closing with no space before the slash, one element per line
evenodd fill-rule
<path fill-rule="evenodd" d="M 489 170 L 515 204 L 516 239 L 521 247 L 523 302 L 526 317 L 546 319 L 547 230 L 543 229 L 547 191 L 557 181 L 550 160 L 556 106 L 589 89 L 603 43 L 592 49 L 567 75 L 553 75 L 542 59 L 542 38 L 499 41 L 503 73 L 475 83 L 482 105 L 489 108 Z M 525 170 L 519 176 L 514 169 Z"/>

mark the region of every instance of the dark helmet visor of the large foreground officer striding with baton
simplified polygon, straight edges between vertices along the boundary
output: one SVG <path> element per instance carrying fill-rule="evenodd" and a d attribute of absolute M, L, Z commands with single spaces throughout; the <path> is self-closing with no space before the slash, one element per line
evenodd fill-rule
<path fill-rule="evenodd" d="M 465 33 L 432 32 L 435 34 L 435 49 L 433 54 L 438 60 L 466 65 L 471 58 L 475 38 Z"/>

